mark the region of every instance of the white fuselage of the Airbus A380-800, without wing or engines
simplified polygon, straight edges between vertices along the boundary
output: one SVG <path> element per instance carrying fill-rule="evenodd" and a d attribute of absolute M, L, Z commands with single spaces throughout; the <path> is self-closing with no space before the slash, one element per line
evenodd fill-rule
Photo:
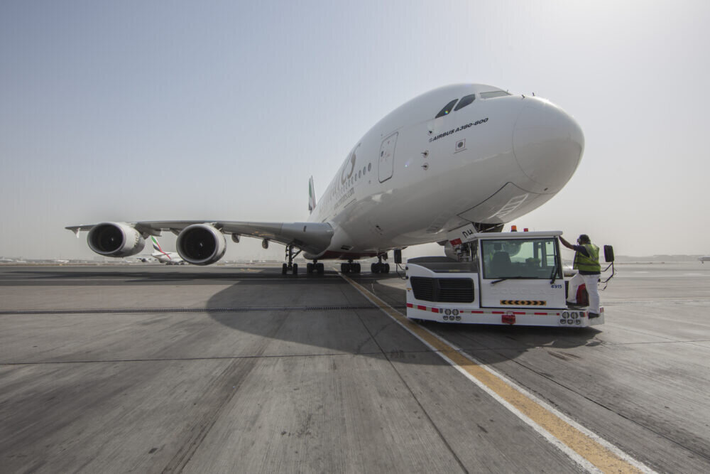
<path fill-rule="evenodd" d="M 469 95 L 474 102 L 435 118 Z M 331 244 L 306 257 L 374 256 L 469 222 L 509 222 L 559 192 L 583 151 L 577 122 L 545 99 L 470 84 L 427 92 L 348 154 L 309 218 L 332 225 Z"/>

